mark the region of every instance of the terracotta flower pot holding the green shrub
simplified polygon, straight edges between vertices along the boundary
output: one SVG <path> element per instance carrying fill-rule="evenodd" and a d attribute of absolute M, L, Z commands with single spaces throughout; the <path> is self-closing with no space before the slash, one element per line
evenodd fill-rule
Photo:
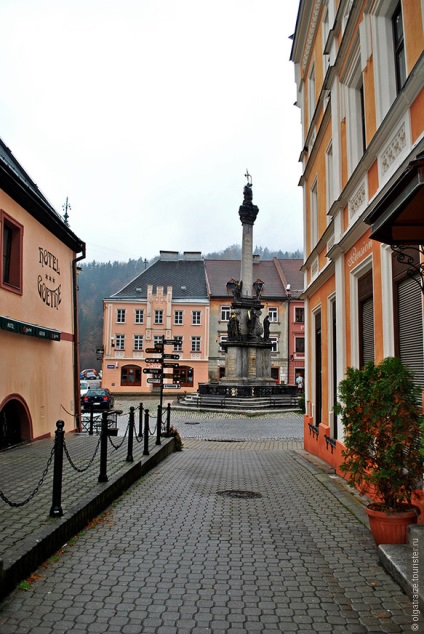
<path fill-rule="evenodd" d="M 397 513 L 378 510 L 376 504 L 368 506 L 365 511 L 377 546 L 380 544 L 406 544 L 408 526 L 416 524 L 420 514 L 419 508 L 410 504 L 405 504 L 405 510 Z"/>

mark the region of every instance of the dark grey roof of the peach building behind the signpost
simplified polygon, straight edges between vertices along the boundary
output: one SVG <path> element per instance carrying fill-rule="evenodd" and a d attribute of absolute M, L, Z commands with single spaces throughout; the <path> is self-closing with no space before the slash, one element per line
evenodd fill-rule
<path fill-rule="evenodd" d="M 146 299 L 147 286 L 172 286 L 173 299 L 207 299 L 203 260 L 158 260 L 112 295 L 114 299 Z M 139 290 L 137 290 L 139 289 Z"/>

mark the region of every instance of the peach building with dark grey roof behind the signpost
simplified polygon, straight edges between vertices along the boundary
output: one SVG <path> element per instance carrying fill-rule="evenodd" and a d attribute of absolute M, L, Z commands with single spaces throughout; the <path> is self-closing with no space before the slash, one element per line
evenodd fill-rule
<path fill-rule="evenodd" d="M 102 385 L 115 393 L 152 392 L 146 359 L 161 338 L 173 339 L 166 352 L 179 355 L 179 367 L 166 386 L 193 392 L 207 380 L 209 299 L 201 253 L 161 251 L 160 258 L 103 302 Z M 171 388 L 169 388 L 171 389 Z"/>

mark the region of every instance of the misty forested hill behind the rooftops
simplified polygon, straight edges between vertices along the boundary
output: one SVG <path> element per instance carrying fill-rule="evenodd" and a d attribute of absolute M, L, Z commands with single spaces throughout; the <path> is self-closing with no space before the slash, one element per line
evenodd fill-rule
<path fill-rule="evenodd" d="M 256 247 L 254 253 L 260 255 L 262 260 L 272 260 L 274 257 L 302 257 L 301 251 L 289 253 L 287 251 L 270 251 L 262 247 Z M 233 244 L 223 251 L 208 253 L 204 257 L 213 260 L 239 260 L 241 246 Z M 139 258 L 128 262 L 93 261 L 81 264 L 82 271 L 78 276 L 78 314 L 82 369 L 100 369 L 100 362 L 96 360 L 96 348 L 102 344 L 103 299 L 119 291 L 144 271 L 147 266 L 153 264 L 156 259 L 147 261 L 144 258 Z"/>

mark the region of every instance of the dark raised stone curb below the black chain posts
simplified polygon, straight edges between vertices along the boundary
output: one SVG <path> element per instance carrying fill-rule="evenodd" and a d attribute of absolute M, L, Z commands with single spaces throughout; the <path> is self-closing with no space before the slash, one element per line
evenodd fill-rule
<path fill-rule="evenodd" d="M 51 525 L 33 533 L 8 557 L 0 560 L 0 598 L 11 592 L 17 583 L 25 579 L 40 564 L 51 557 L 88 522 L 102 513 L 134 482 L 148 473 L 175 451 L 175 438 L 162 438 L 162 444 L 149 448 L 150 455 L 136 462 L 125 473 L 112 476 L 108 482 L 98 483 L 78 504 L 60 518 L 51 518 Z"/>

